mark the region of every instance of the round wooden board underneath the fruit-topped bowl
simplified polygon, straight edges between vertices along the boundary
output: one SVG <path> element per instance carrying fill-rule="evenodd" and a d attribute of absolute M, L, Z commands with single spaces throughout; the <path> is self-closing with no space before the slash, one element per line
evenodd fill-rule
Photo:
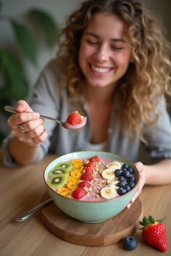
<path fill-rule="evenodd" d="M 49 196 L 45 194 L 41 201 Z M 41 209 L 41 220 L 45 227 L 64 241 L 82 246 L 107 246 L 117 244 L 125 236 L 132 236 L 143 217 L 143 208 L 138 198 L 130 207 L 115 217 L 96 224 L 84 223 L 69 217 L 50 203 Z"/>

